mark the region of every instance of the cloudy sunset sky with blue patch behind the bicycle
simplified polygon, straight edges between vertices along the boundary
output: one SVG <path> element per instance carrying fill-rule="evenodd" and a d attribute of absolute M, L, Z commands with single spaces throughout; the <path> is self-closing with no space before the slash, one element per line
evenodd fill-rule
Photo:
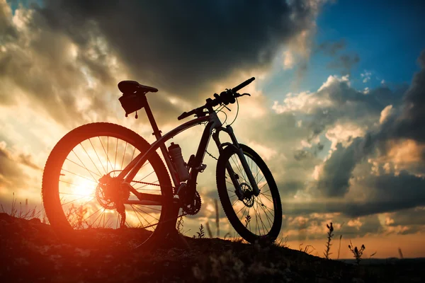
<path fill-rule="evenodd" d="M 124 117 L 119 81 L 159 89 L 148 100 L 166 132 L 181 112 L 254 76 L 232 126 L 278 184 L 280 238 L 322 256 L 332 221 L 335 238 L 364 244 L 366 256 L 425 256 L 422 1 L 160 2 L 0 0 L 4 207 L 13 192 L 40 207 L 47 156 L 79 125 L 113 122 L 154 141 L 145 117 Z M 184 158 L 202 130 L 176 137 Z M 208 151 L 217 156 L 214 144 Z M 215 221 L 215 160 L 205 163 L 188 235 Z"/>

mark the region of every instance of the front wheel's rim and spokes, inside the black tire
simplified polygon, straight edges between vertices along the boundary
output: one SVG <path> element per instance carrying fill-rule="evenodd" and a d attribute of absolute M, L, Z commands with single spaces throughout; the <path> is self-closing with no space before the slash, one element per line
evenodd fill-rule
<path fill-rule="evenodd" d="M 245 226 L 245 229 L 256 236 L 265 236 L 270 233 L 275 219 L 272 192 L 266 180 L 266 176 L 261 171 L 258 164 L 256 164 L 255 158 L 246 152 L 244 152 L 244 156 L 256 180 L 256 184 L 259 187 L 260 194 L 258 196 L 252 194 L 250 182 L 239 160 L 239 156 L 237 156 L 237 154 L 232 154 L 228 162 L 234 173 L 239 176 L 239 183 L 241 183 L 239 187 L 240 191 L 243 192 L 244 199 L 239 200 L 237 197 L 236 189 L 226 169 L 225 184 L 227 197 L 229 197 L 234 214 L 236 214 L 239 221 Z"/>

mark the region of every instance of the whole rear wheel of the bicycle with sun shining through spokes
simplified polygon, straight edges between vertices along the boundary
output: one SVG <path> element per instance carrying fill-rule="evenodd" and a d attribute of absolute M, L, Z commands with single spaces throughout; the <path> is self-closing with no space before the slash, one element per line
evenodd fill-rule
<path fill-rule="evenodd" d="M 149 157 L 130 185 L 137 192 L 161 196 L 162 204 L 136 204 L 138 199 L 128 188 L 119 182 L 111 185 L 149 146 L 130 129 L 104 122 L 77 127 L 60 139 L 47 158 L 42 177 L 45 212 L 57 234 L 78 242 L 87 230 L 130 228 L 137 231 L 133 243 L 142 249 L 162 238 L 173 193 L 159 155 L 154 152 Z"/>

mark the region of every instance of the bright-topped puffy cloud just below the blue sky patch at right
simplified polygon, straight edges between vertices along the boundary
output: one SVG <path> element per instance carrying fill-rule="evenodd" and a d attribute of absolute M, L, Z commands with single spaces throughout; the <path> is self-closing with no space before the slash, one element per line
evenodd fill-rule
<path fill-rule="evenodd" d="M 399 104 L 403 90 L 391 91 L 380 87 L 370 90 L 368 96 L 351 87 L 348 76 L 329 76 L 315 92 L 288 93 L 283 103 L 275 101 L 276 113 L 300 116 L 303 125 L 310 128 L 310 139 L 332 127 L 336 122 L 355 121 L 363 127 L 375 123 L 385 106 Z"/>

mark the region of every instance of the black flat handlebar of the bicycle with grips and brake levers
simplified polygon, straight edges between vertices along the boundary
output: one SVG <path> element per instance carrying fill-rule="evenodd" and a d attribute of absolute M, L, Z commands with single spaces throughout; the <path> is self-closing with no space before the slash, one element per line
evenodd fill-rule
<path fill-rule="evenodd" d="M 214 99 L 211 98 L 207 98 L 207 103 L 205 103 L 205 105 L 193 109 L 189 112 L 183 112 L 181 113 L 181 115 L 179 117 L 177 117 L 177 120 L 182 120 L 186 117 L 189 117 L 191 115 L 198 115 L 198 117 L 200 117 L 200 115 L 204 115 L 205 113 L 203 110 L 204 109 L 208 109 L 210 111 L 212 111 L 212 107 L 217 106 L 219 104 L 229 104 L 229 103 L 235 103 L 236 102 L 236 98 L 241 97 L 241 96 L 251 96 L 249 93 L 243 93 L 243 94 L 239 94 L 237 93 L 237 91 L 239 91 L 241 88 L 244 88 L 245 86 L 248 86 L 249 83 L 251 83 L 252 81 L 254 81 L 254 76 L 251 79 L 247 79 L 246 81 L 244 81 L 243 83 L 240 83 L 239 86 L 235 86 L 232 89 L 227 89 L 226 91 L 222 91 L 222 93 L 220 93 L 220 96 L 217 93 L 214 93 Z"/>

